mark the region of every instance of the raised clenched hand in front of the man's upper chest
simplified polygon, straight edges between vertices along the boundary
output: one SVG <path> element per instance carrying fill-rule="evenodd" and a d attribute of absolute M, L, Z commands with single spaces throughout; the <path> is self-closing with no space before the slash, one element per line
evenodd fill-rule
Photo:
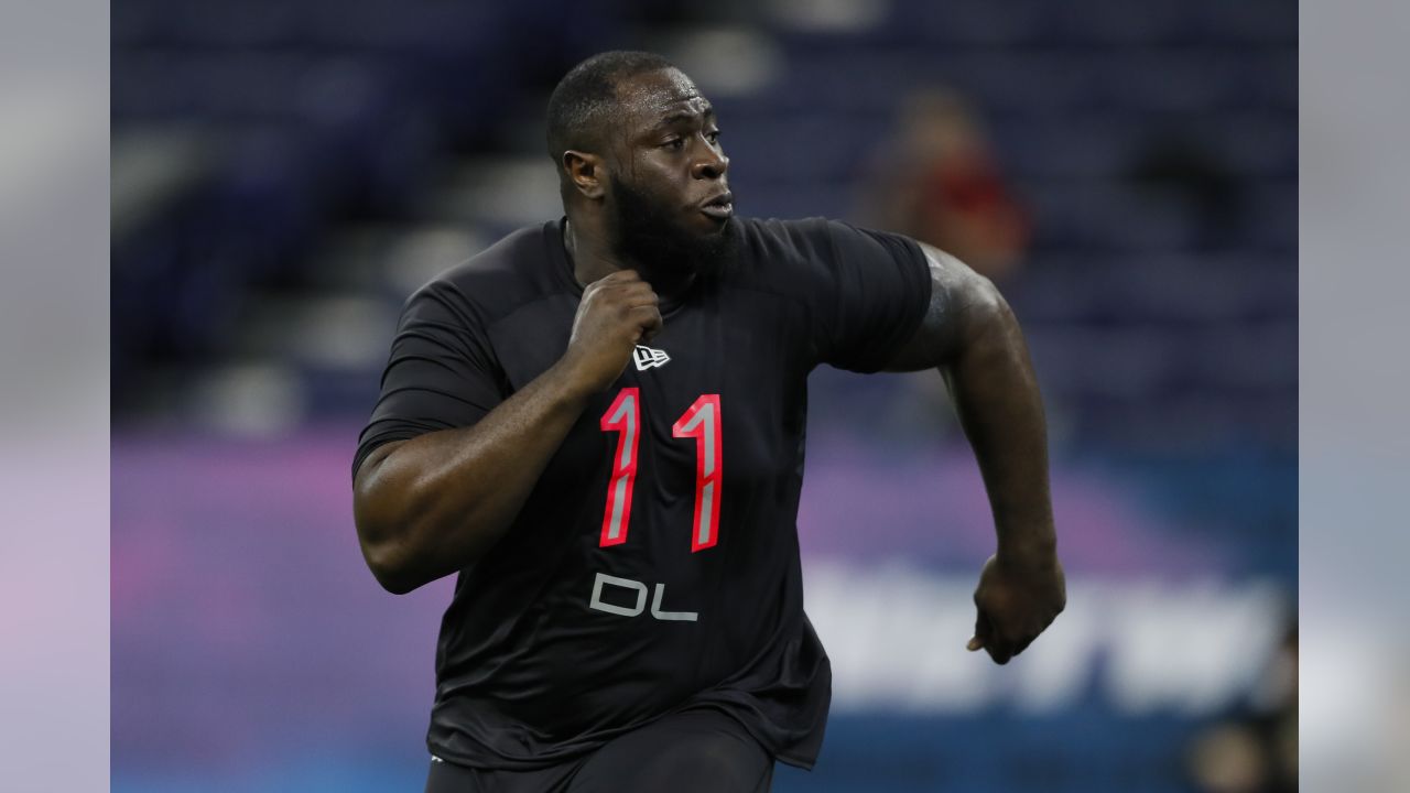
<path fill-rule="evenodd" d="M 634 270 L 619 270 L 582 291 L 563 363 L 589 392 L 612 385 L 639 341 L 661 329 L 651 285 Z"/>

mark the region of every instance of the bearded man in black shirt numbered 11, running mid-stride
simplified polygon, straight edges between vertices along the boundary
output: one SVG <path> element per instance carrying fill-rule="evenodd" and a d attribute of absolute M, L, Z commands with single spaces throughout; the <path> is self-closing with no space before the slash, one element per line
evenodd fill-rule
<path fill-rule="evenodd" d="M 733 216 L 713 110 L 609 52 L 548 103 L 567 217 L 406 303 L 354 463 L 393 593 L 458 573 L 427 790 L 767 790 L 830 696 L 802 610 L 807 375 L 938 367 L 998 553 L 969 649 L 1065 603 L 1042 405 L 983 278 L 894 234 Z M 857 531 L 866 531 L 859 526 Z"/>

